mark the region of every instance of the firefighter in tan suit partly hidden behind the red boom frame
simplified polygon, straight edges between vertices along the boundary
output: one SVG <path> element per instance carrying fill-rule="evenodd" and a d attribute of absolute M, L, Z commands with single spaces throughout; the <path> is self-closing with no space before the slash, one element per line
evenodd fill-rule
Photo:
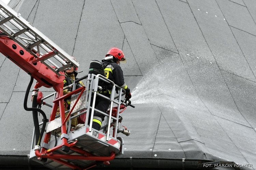
<path fill-rule="evenodd" d="M 76 61 L 74 57 L 72 57 L 73 60 Z M 67 69 L 65 71 L 66 78 L 63 80 L 63 88 L 69 86 L 70 84 L 73 84 L 73 82 L 78 79 L 77 76 L 77 67 L 70 67 L 70 69 Z M 76 88 L 84 86 L 84 83 L 82 81 L 79 81 L 76 84 Z M 73 88 L 68 88 L 63 90 L 63 95 L 66 95 L 72 91 Z M 64 107 L 65 111 L 70 109 L 70 103 L 71 103 L 71 96 L 64 99 Z M 57 110 L 57 114 L 59 114 L 59 108 Z M 65 114 L 65 117 L 68 115 L 68 113 Z M 77 117 L 71 120 L 71 130 L 74 129 L 77 125 Z"/>

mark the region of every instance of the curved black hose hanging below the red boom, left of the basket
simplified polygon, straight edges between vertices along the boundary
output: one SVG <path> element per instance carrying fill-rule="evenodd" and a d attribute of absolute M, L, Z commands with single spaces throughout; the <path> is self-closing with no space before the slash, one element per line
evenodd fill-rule
<path fill-rule="evenodd" d="M 30 91 L 30 88 L 32 86 L 33 80 L 34 80 L 34 78 L 31 76 L 28 87 L 27 87 L 27 90 L 26 90 L 25 98 L 24 98 L 24 109 L 27 110 L 27 111 L 32 111 L 34 127 L 35 127 L 35 141 L 37 142 L 36 143 L 37 145 L 40 145 L 41 139 L 43 137 L 43 133 L 44 133 L 44 130 L 45 130 L 45 126 L 46 126 L 46 123 L 47 123 L 47 118 L 46 118 L 46 114 L 44 113 L 44 111 L 37 108 L 37 96 L 36 95 L 33 97 L 33 100 L 32 100 L 32 108 L 27 107 L 28 95 L 29 95 L 29 91 Z M 40 133 L 40 127 L 39 127 L 38 113 L 37 112 L 40 112 L 43 116 L 43 126 L 42 126 L 41 133 Z"/>

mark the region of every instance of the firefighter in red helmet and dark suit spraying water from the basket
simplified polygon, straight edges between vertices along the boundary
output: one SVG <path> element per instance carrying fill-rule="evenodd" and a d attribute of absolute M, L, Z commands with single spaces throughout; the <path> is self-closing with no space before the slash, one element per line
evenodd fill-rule
<path fill-rule="evenodd" d="M 129 100 L 131 98 L 130 89 L 127 87 L 124 81 L 124 75 L 122 68 L 119 66 L 119 63 L 126 63 L 125 55 L 122 50 L 116 47 L 112 47 L 109 49 L 108 53 L 106 54 L 105 58 L 102 59 L 102 62 L 108 62 L 108 65 L 104 68 L 105 77 L 113 81 L 118 86 L 125 89 L 126 94 L 125 98 Z M 110 90 L 112 86 L 110 85 L 103 85 L 102 91 L 100 92 L 102 95 L 106 97 L 110 97 Z M 110 101 L 108 99 L 102 97 L 96 97 L 95 108 L 102 111 L 107 112 L 110 105 Z M 99 130 L 104 120 L 104 115 L 98 112 L 94 113 L 93 117 L 93 126 L 92 128 Z"/>

